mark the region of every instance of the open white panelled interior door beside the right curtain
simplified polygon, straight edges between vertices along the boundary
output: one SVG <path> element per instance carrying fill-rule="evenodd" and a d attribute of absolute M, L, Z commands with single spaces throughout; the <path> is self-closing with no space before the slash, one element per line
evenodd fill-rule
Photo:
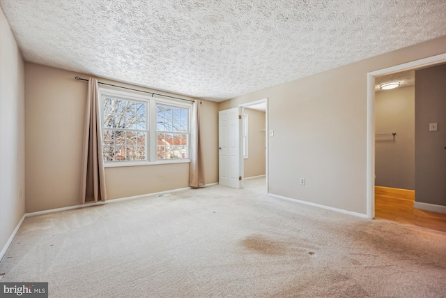
<path fill-rule="evenodd" d="M 240 108 L 218 112 L 218 183 L 240 188 Z"/>

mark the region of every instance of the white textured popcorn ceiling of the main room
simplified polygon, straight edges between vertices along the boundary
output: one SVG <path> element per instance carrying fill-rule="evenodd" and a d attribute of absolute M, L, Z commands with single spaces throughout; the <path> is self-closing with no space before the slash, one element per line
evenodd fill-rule
<path fill-rule="evenodd" d="M 444 0 L 0 0 L 26 61 L 216 101 L 446 35 Z"/>

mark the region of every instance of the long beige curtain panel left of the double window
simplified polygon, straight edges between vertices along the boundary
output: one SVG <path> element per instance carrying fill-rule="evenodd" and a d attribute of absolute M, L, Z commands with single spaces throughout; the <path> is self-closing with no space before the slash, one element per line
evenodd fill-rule
<path fill-rule="evenodd" d="M 90 77 L 89 92 L 85 106 L 84 147 L 82 153 L 82 204 L 107 200 L 99 109 L 98 80 Z"/>

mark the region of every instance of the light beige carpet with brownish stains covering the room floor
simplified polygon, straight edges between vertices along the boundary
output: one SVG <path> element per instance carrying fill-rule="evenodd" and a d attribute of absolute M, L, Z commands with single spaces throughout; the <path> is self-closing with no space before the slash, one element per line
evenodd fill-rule
<path fill-rule="evenodd" d="M 278 200 L 264 179 L 26 218 L 3 281 L 49 297 L 446 297 L 446 236 Z"/>

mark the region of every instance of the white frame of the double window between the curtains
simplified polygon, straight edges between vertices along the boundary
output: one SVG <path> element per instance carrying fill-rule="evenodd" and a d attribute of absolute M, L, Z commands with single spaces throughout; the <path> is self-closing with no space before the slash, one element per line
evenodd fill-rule
<path fill-rule="evenodd" d="M 99 107 L 100 107 L 100 138 L 102 141 L 103 133 L 102 131 L 105 129 L 103 127 L 103 117 L 104 117 L 104 100 L 102 100 L 102 96 L 111 96 L 111 97 L 119 97 L 128 100 L 134 100 L 139 102 L 144 102 L 147 104 L 146 106 L 146 159 L 143 161 L 104 161 L 104 167 L 126 167 L 126 166 L 135 166 L 135 165 L 160 165 L 166 163 L 190 163 L 190 135 L 191 131 L 191 122 L 192 122 L 192 103 L 183 103 L 179 100 L 167 100 L 164 98 L 155 98 L 152 96 L 146 96 L 141 94 L 134 94 L 125 91 L 118 91 L 114 89 L 107 88 L 99 88 Z M 187 108 L 188 110 L 188 154 L 189 158 L 171 158 L 171 159 L 160 159 L 157 160 L 157 115 L 156 115 L 156 105 L 159 103 L 160 105 L 169 105 L 171 107 L 182 107 Z M 101 146 L 103 147 L 103 146 Z M 102 148 L 101 148 L 102 149 Z M 103 152 L 101 152 L 103 154 Z"/>

